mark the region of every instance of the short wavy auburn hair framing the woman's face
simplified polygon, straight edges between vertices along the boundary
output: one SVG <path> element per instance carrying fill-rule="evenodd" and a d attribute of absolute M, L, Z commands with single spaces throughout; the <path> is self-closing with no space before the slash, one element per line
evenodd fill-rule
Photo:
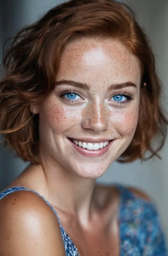
<path fill-rule="evenodd" d="M 159 102 L 161 84 L 154 55 L 133 11 L 114 0 L 71 0 L 60 4 L 14 37 L 4 58 L 6 74 L 0 83 L 0 130 L 5 142 L 24 161 L 39 163 L 38 114 L 30 112 L 30 104 L 41 101 L 54 89 L 66 45 L 82 37 L 118 39 L 140 60 L 137 130 L 119 160 L 144 160 L 146 151 L 150 152 L 149 157 L 158 155 L 165 142 L 167 119 Z"/>

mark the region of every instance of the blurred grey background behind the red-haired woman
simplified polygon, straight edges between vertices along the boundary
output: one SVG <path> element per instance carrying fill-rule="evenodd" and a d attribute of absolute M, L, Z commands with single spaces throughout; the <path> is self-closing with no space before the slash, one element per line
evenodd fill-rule
<path fill-rule="evenodd" d="M 6 38 L 16 34 L 24 25 L 33 23 L 50 7 L 64 1 L 1 0 L 0 1 L 0 60 Z M 156 58 L 156 67 L 163 84 L 162 103 L 168 111 L 168 1 L 122 0 L 133 8 L 139 23 L 148 34 Z M 2 71 L 2 70 L 1 70 Z M 2 72 L 1 72 L 2 73 Z M 2 76 L 2 74 L 1 74 Z M 0 137 L 0 140 L 3 138 Z M 168 238 L 168 140 L 160 153 L 162 159 L 135 161 L 130 164 L 113 163 L 98 182 L 122 183 L 135 186 L 156 203 L 163 229 Z M 5 188 L 27 165 L 0 144 L 0 189 Z"/>

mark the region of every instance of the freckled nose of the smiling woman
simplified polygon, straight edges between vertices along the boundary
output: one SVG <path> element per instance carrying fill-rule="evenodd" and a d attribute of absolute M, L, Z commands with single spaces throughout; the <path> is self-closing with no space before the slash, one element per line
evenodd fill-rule
<path fill-rule="evenodd" d="M 82 118 L 82 127 L 97 132 L 107 130 L 109 126 L 109 113 L 103 103 L 92 103 L 86 107 Z"/>

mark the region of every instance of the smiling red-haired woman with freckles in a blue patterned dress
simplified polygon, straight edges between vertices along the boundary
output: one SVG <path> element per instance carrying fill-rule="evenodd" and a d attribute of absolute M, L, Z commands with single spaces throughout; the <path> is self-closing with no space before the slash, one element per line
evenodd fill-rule
<path fill-rule="evenodd" d="M 153 53 L 129 7 L 61 4 L 16 36 L 4 64 L 1 133 L 31 164 L 0 194 L 0 254 L 167 255 L 150 199 L 95 183 L 165 141 Z"/>

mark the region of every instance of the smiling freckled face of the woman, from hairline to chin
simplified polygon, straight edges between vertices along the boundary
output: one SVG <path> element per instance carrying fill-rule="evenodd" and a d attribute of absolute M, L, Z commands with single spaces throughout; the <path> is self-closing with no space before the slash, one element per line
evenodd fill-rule
<path fill-rule="evenodd" d="M 82 178 L 102 175 L 133 138 L 140 81 L 139 60 L 121 42 L 69 43 L 55 89 L 37 106 L 45 165 Z"/>

